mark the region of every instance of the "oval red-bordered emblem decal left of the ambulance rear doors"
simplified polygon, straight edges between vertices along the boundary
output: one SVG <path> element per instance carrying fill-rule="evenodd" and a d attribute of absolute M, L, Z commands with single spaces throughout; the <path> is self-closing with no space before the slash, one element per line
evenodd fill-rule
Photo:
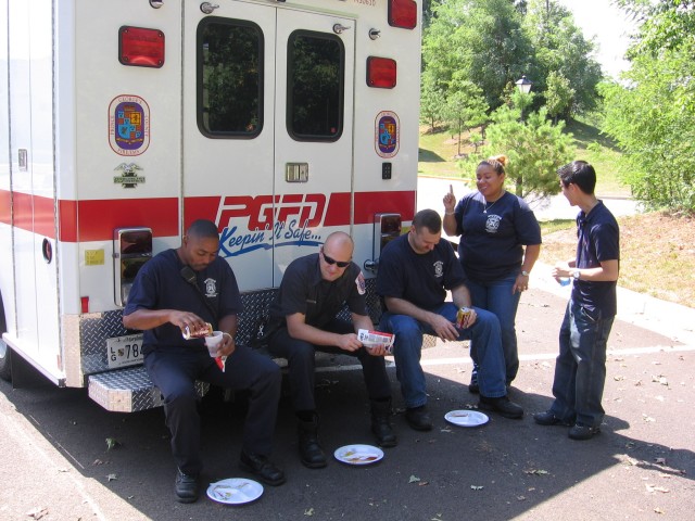
<path fill-rule="evenodd" d="M 150 106 L 139 96 L 118 96 L 109 105 L 109 144 L 118 155 L 140 155 L 150 145 Z"/>

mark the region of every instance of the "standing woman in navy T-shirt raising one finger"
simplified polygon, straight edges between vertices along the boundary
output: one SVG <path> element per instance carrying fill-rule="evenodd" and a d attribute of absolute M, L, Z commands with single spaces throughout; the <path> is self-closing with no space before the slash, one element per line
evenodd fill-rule
<path fill-rule="evenodd" d="M 519 370 L 515 320 L 521 292 L 541 252 L 541 227 L 521 198 L 504 189 L 505 155 L 480 162 L 477 192 L 456 204 L 444 195 L 444 231 L 460 236 L 458 257 L 468 277 L 473 305 L 494 313 L 502 329 L 507 386 Z M 454 205 L 456 206 L 454 208 Z M 478 393 L 478 368 L 468 386 Z"/>

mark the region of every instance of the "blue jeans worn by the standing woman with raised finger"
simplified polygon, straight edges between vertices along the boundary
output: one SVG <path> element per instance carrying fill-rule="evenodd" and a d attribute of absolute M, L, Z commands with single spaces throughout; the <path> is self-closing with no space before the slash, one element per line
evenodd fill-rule
<path fill-rule="evenodd" d="M 515 274 L 492 282 L 476 282 L 469 279 L 466 283 L 468 291 L 470 291 L 472 303 L 478 307 L 494 313 L 497 320 L 500 320 L 507 383 L 511 383 L 519 371 L 519 351 L 515 321 L 521 293 L 511 293 L 511 288 L 514 288 L 516 281 L 517 276 Z"/>

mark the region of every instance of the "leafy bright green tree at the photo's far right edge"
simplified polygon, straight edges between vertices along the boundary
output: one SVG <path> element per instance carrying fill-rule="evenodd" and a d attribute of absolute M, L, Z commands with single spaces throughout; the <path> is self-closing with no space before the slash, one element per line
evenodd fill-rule
<path fill-rule="evenodd" d="M 604 130 L 647 208 L 695 212 L 695 2 L 622 2 L 642 20 L 624 85 L 606 84 Z"/>

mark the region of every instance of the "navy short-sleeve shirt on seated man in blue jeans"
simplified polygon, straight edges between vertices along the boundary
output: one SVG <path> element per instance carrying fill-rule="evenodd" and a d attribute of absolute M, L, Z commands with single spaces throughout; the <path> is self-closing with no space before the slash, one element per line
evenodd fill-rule
<path fill-rule="evenodd" d="M 406 233 L 389 242 L 379 258 L 377 293 L 381 297 L 403 298 L 422 309 L 440 306 L 446 298 L 446 290 L 465 281 L 460 263 L 446 240 L 419 254 L 410 246 Z"/>

